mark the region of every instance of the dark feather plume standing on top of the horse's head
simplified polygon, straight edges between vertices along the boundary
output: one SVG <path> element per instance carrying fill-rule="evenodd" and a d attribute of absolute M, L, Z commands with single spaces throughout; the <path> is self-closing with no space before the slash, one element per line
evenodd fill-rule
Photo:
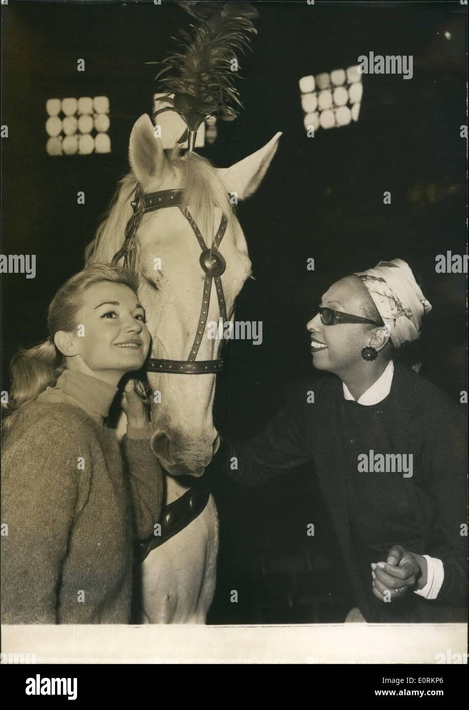
<path fill-rule="evenodd" d="M 187 129 L 178 143 L 188 141 L 192 152 L 202 121 L 216 116 L 233 121 L 242 108 L 235 86 L 237 53 L 250 49 L 250 37 L 257 34 L 252 18 L 258 11 L 249 2 L 178 1 L 198 23 L 192 31 L 180 30 L 178 51 L 162 62 L 158 80 L 166 105 L 153 114 L 176 111 Z M 174 94 L 174 95 L 172 95 Z"/>

